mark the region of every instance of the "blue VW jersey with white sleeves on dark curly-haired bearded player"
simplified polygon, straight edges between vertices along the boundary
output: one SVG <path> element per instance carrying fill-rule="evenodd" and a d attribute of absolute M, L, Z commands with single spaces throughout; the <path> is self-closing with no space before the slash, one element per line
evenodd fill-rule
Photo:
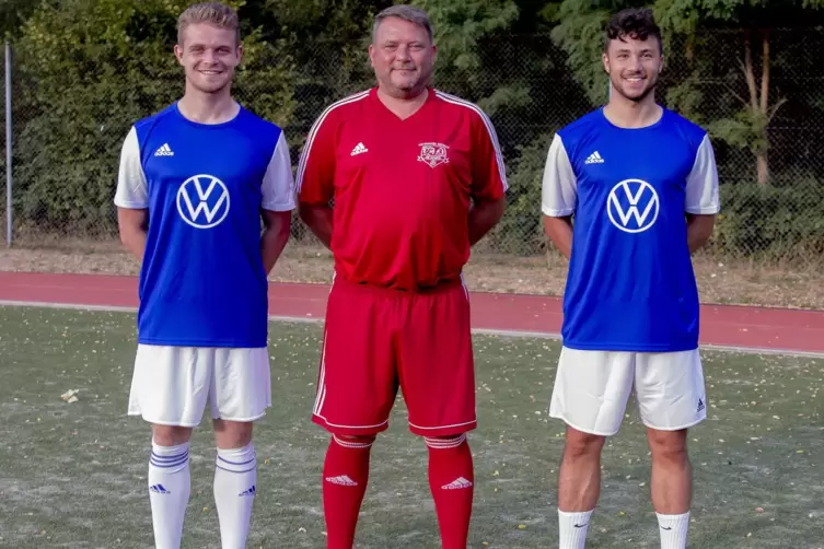
<path fill-rule="evenodd" d="M 542 210 L 573 214 L 564 344 L 664 352 L 698 347 L 698 290 L 685 213 L 719 211 L 707 132 L 663 109 L 619 128 L 597 109 L 558 131 Z"/>

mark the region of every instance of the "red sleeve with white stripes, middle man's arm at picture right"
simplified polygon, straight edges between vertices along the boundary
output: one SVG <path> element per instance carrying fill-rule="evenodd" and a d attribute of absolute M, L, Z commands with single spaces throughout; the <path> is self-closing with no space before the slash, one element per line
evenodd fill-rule
<path fill-rule="evenodd" d="M 492 121 L 480 110 L 472 128 L 472 197 L 478 200 L 498 200 L 509 188 L 507 166 Z"/>

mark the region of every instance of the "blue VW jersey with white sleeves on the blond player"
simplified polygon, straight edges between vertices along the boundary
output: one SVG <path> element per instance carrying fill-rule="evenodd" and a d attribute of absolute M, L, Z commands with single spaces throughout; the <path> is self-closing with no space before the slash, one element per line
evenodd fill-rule
<path fill-rule="evenodd" d="M 199 124 L 173 104 L 126 137 L 115 205 L 149 210 L 140 343 L 267 344 L 260 210 L 294 208 L 279 127 L 243 107 L 228 122 Z"/>

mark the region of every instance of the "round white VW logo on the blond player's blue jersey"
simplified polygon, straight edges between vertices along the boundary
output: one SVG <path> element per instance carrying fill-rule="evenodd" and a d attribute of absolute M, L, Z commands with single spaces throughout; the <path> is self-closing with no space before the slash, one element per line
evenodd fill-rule
<path fill-rule="evenodd" d="M 177 212 L 195 229 L 211 229 L 229 214 L 229 189 L 213 175 L 194 175 L 177 189 Z"/>

